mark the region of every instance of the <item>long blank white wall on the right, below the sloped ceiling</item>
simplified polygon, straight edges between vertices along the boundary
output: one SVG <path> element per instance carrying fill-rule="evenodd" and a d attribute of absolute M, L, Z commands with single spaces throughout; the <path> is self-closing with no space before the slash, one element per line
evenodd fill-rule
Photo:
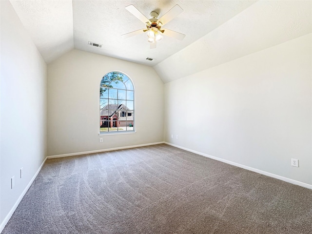
<path fill-rule="evenodd" d="M 166 83 L 165 141 L 312 185 L 311 41 Z"/>

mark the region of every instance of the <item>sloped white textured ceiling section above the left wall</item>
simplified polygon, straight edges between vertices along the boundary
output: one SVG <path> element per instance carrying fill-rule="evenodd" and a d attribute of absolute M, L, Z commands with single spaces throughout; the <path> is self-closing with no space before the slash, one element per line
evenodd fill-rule
<path fill-rule="evenodd" d="M 11 0 L 11 3 L 47 63 L 74 49 L 72 1 Z"/>

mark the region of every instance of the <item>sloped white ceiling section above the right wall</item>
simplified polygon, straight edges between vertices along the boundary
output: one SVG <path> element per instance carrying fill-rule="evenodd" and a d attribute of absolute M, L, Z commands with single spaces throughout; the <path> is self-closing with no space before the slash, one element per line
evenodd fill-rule
<path fill-rule="evenodd" d="M 312 1 L 258 1 L 154 66 L 166 83 L 312 32 Z"/>

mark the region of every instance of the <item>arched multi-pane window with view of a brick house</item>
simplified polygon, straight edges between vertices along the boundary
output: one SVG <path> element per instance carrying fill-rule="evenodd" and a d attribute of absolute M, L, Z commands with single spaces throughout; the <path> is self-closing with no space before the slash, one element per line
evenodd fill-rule
<path fill-rule="evenodd" d="M 99 88 L 100 134 L 134 132 L 135 90 L 131 79 L 121 72 L 109 72 Z"/>

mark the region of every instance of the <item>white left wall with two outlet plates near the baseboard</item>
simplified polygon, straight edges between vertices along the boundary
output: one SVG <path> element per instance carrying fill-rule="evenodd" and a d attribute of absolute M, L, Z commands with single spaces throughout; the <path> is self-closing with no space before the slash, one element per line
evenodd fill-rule
<path fill-rule="evenodd" d="M 0 1 L 0 4 L 2 229 L 46 157 L 47 66 L 11 3 Z M 12 176 L 15 176 L 13 189 Z"/>

